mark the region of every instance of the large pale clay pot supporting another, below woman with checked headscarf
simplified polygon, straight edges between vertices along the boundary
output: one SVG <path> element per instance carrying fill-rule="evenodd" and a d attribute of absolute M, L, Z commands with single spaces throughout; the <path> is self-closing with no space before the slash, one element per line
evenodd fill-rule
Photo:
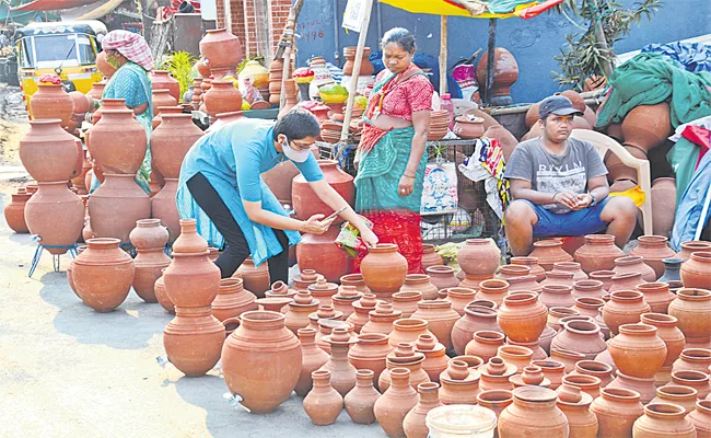
<path fill-rule="evenodd" d="M 92 229 L 100 238 L 128 242 L 136 221 L 151 217 L 151 198 L 136 184 L 135 175 L 107 173 L 105 177 L 89 197 Z"/>

